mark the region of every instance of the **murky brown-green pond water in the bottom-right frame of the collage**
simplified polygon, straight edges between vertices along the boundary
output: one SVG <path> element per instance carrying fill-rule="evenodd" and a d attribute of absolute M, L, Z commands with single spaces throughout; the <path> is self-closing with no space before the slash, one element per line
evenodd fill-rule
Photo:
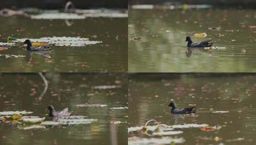
<path fill-rule="evenodd" d="M 212 75 L 212 76 L 211 76 Z M 137 74 L 129 80 L 128 127 L 144 125 L 150 119 L 162 124 L 221 125 L 217 131 L 203 132 L 199 128 L 183 131 L 185 145 L 254 145 L 256 135 L 255 74 Z M 196 104 L 196 115 L 173 115 L 167 107 L 173 99 L 178 108 Z M 212 111 L 229 111 L 214 114 Z M 129 137 L 132 137 L 130 134 Z M 214 141 L 214 137 L 222 138 Z M 146 135 L 138 137 L 152 138 Z M 241 138 L 242 141 L 233 139 Z M 221 145 L 221 144 L 220 144 Z"/>

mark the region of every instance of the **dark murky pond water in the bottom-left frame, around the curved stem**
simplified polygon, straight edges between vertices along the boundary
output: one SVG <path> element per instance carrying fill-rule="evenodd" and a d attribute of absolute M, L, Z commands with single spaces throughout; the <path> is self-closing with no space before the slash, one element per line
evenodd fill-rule
<path fill-rule="evenodd" d="M 46 126 L 46 129 L 22 130 L 16 124 L 0 123 L 1 145 L 126 145 L 127 110 L 111 107 L 127 106 L 126 74 L 114 73 L 46 73 L 49 88 L 42 101 L 42 79 L 36 73 L 0 74 L 0 111 L 27 110 L 45 116 L 52 104 L 56 110 L 68 107 L 72 115 L 98 119 L 92 124 Z M 116 84 L 118 83 L 118 84 Z M 99 85 L 121 85 L 115 89 L 93 89 Z M 33 93 L 33 89 L 36 93 Z M 77 108 L 76 104 L 106 104 L 107 107 Z M 121 121 L 122 124 L 111 124 Z"/>

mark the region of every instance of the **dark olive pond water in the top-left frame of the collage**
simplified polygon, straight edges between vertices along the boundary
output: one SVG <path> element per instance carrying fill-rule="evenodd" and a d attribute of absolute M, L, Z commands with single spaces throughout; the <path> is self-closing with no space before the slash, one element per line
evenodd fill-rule
<path fill-rule="evenodd" d="M 84 47 L 56 46 L 49 52 L 27 52 L 24 46 L 9 47 L 0 54 L 21 54 L 25 58 L 0 58 L 0 72 L 126 72 L 127 18 L 85 20 L 30 20 L 0 17 L 0 42 L 14 38 L 53 36 L 84 37 L 100 44 Z M 118 36 L 118 39 L 116 39 Z"/>

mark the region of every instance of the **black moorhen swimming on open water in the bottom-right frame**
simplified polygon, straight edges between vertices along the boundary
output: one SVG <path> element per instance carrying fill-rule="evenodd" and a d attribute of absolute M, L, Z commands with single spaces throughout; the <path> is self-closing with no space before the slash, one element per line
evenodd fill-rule
<path fill-rule="evenodd" d="M 191 106 L 183 109 L 177 109 L 177 106 L 174 102 L 171 102 L 168 106 L 172 107 L 171 113 L 172 114 L 192 114 L 196 113 L 198 109 L 195 109 L 196 106 Z"/>

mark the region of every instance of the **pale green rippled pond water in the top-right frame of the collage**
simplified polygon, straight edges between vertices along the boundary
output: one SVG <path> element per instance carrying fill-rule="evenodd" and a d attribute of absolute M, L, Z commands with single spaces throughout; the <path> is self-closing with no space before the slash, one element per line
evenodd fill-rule
<path fill-rule="evenodd" d="M 130 9 L 129 71 L 256 72 L 255 19 L 256 10 Z M 206 32 L 205 39 L 212 38 L 214 46 L 226 49 L 188 51 L 186 36 L 199 42 L 204 39 L 193 36 L 200 32 Z M 134 37 L 142 41 L 133 41 Z"/>

